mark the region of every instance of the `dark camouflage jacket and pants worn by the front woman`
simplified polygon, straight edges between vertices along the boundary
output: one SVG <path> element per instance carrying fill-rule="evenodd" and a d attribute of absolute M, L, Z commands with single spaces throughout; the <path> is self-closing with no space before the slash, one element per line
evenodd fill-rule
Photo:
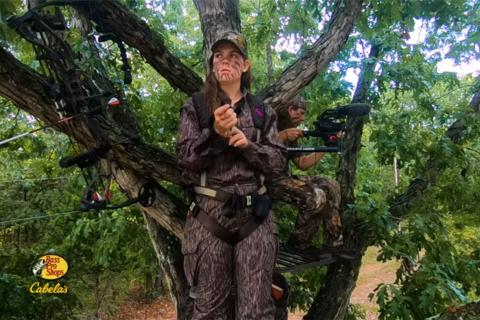
<path fill-rule="evenodd" d="M 212 128 L 200 129 L 192 100 L 182 108 L 177 143 L 180 165 L 192 185 L 207 171 L 207 186 L 246 195 L 259 188 L 259 173 L 278 173 L 285 165 L 284 147 L 277 134 L 275 114 L 265 108 L 265 130 L 260 143 L 245 96 L 237 103 L 237 127 L 249 139 L 245 149 L 229 147 Z M 265 165 L 268 164 L 268 165 Z M 252 213 L 250 208 L 225 216 L 228 208 L 213 198 L 196 195 L 199 207 L 217 222 L 236 231 Z M 195 299 L 193 319 L 227 319 L 232 282 L 236 283 L 237 319 L 273 319 L 272 273 L 277 250 L 277 231 L 272 214 L 247 238 L 229 245 L 207 231 L 190 213 L 184 229 L 184 268 Z"/>

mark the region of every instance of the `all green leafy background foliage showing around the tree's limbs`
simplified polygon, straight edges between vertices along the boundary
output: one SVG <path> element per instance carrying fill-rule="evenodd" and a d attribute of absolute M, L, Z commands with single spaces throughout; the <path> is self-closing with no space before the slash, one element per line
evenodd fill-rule
<path fill-rule="evenodd" d="M 203 74 L 202 33 L 191 1 L 123 3 L 159 32 L 183 63 Z M 241 1 L 242 31 L 249 40 L 254 66 L 254 91 L 271 85 L 308 50 L 338 3 L 343 2 Z M 360 232 L 369 244 L 382 247 L 380 261 L 403 262 L 396 283 L 380 286 L 375 293 L 382 319 L 432 317 L 480 295 L 479 122 L 478 116 L 464 117 L 472 92 L 478 88 L 472 76 L 459 79 L 437 71 L 444 58 L 457 62 L 479 59 L 479 8 L 475 0 L 369 1 L 336 61 L 301 92 L 309 108 L 305 127 L 310 127 L 322 111 L 351 100 L 355 84 L 347 74 L 358 74 L 371 44 L 380 45 L 382 54 L 368 94 L 373 108 L 362 137 L 356 203 L 343 218 L 347 228 Z M 24 9 L 19 0 L 0 1 L 0 45 L 40 71 L 31 46 L 6 26 L 8 15 Z M 419 30 L 425 31 L 424 39 Z M 92 45 L 75 30 L 68 39 L 83 57 L 83 71 L 99 71 Z M 96 48 L 108 77 L 125 90 L 145 140 L 173 152 L 178 110 L 187 97 L 171 88 L 133 48 L 128 48 L 133 83 L 126 87 L 119 72 L 118 48 L 111 43 L 97 44 Z M 0 108 L 0 137 L 40 125 L 6 101 L 0 100 L 0 105 L 4 106 Z M 468 130 L 456 145 L 445 138 L 445 132 L 460 118 Z M 316 145 L 318 141 L 302 143 Z M 78 207 L 85 182 L 80 172 L 60 170 L 57 162 L 73 152 L 67 139 L 52 130 L 0 146 L 0 219 L 39 219 L 1 225 L 0 255 L 6 262 L 2 263 L 0 298 L 7 301 L 8 294 L 12 301 L 0 304 L 6 317 L 109 315 L 128 292 L 130 280 L 140 282 L 145 274 L 155 274 L 156 258 L 152 248 L 145 245 L 150 240 L 137 210 L 68 213 Z M 339 156 L 327 155 L 316 168 L 293 173 L 334 177 Z M 399 185 L 393 179 L 394 158 L 400 170 Z M 439 171 L 435 186 L 408 208 L 405 217 L 392 216 L 392 199 L 413 178 L 425 173 L 429 159 L 435 160 Z M 296 211 L 292 206 L 275 204 L 282 241 L 293 229 Z M 320 232 L 317 245 L 321 245 L 321 238 Z M 65 254 L 72 262 L 65 279 L 72 295 L 25 294 L 25 286 L 32 281 L 31 261 L 49 250 Z M 308 308 L 324 283 L 325 271 L 316 268 L 288 275 L 292 307 Z M 57 299 L 63 298 L 65 308 L 52 310 L 59 305 Z M 352 307 L 350 317 L 363 316 Z"/>

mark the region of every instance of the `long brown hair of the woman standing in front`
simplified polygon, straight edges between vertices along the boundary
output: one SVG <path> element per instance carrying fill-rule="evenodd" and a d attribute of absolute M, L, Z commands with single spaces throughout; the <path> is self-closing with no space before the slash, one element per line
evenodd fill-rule
<path fill-rule="evenodd" d="M 246 58 L 244 58 L 246 60 Z M 213 73 L 213 55 L 210 57 L 209 60 L 210 71 L 205 79 L 205 84 L 203 86 L 203 91 L 205 92 L 205 97 L 207 99 L 207 107 L 208 107 L 208 114 L 212 115 L 213 111 L 219 106 L 229 103 L 229 98 L 223 92 L 222 88 L 220 88 L 220 84 L 218 83 L 217 78 L 215 78 L 215 74 Z M 252 82 L 252 72 L 251 68 L 244 73 L 242 73 L 242 77 L 240 78 L 240 90 L 250 89 L 250 85 Z"/>

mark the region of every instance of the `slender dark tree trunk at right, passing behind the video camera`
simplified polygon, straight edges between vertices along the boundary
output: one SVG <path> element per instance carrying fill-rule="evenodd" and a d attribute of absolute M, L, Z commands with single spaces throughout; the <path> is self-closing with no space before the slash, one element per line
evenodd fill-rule
<path fill-rule="evenodd" d="M 380 55 L 378 45 L 372 45 L 367 62 L 357 82 L 357 88 L 352 103 L 366 102 L 367 92 L 374 79 L 374 69 Z M 354 189 L 358 153 L 361 147 L 363 119 L 352 117 L 347 120 L 344 150 L 337 170 L 337 180 L 342 190 L 342 224 L 345 247 L 353 248 L 363 256 L 368 243 L 361 230 L 354 229 L 355 210 L 348 204 L 355 203 Z M 349 218 L 347 218 L 349 217 Z M 345 318 L 350 296 L 358 278 L 361 260 L 338 260 L 328 267 L 325 284 L 318 292 L 315 300 L 304 319 L 335 319 Z"/>

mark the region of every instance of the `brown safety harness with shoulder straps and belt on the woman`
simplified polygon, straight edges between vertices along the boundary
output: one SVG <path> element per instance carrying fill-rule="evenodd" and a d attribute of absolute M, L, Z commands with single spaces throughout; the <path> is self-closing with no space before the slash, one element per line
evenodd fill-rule
<path fill-rule="evenodd" d="M 203 92 L 195 93 L 192 100 L 200 128 L 212 127 L 214 120 L 213 116 L 208 114 L 205 94 Z M 246 103 L 250 107 L 253 124 L 257 132 L 256 142 L 260 142 L 265 129 L 265 107 L 260 99 L 250 94 L 246 95 Z M 210 233 L 226 243 L 235 245 L 248 237 L 260 226 L 262 221 L 268 216 L 268 212 L 270 212 L 271 201 L 266 195 L 267 189 L 264 186 L 265 178 L 263 175 L 259 175 L 258 180 L 259 189 L 257 192 L 248 195 L 238 195 L 207 187 L 207 171 L 203 171 L 200 174 L 199 185 L 193 187 L 196 194 L 210 197 L 224 203 L 230 209 L 230 214 L 226 214 L 227 217 L 233 217 L 238 210 L 249 207 L 253 208 L 254 214 L 252 217 L 236 232 L 231 232 L 220 225 L 215 218 L 200 208 L 195 201 L 191 203 L 189 210 Z"/>

